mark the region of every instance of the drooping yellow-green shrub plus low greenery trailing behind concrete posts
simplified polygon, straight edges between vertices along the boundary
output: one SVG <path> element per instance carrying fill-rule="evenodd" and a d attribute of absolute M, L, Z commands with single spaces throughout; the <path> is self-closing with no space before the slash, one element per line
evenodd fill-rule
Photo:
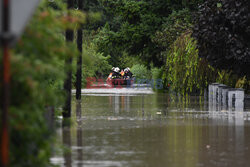
<path fill-rule="evenodd" d="M 219 70 L 198 55 L 197 42 L 191 32 L 183 33 L 167 52 L 162 79 L 165 87 L 182 94 L 202 94 L 208 84 L 223 83 L 248 89 L 248 81 L 228 70 Z"/>

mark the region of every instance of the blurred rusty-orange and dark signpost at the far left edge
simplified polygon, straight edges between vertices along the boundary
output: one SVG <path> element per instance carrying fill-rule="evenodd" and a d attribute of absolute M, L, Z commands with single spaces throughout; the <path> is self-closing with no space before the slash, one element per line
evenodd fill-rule
<path fill-rule="evenodd" d="M 3 0 L 2 4 L 2 30 L 3 34 L 9 33 L 9 0 Z M 9 133 L 8 111 L 10 103 L 10 54 L 9 39 L 3 38 L 3 103 L 2 103 L 2 131 L 1 131 L 1 166 L 7 167 L 9 162 Z"/>

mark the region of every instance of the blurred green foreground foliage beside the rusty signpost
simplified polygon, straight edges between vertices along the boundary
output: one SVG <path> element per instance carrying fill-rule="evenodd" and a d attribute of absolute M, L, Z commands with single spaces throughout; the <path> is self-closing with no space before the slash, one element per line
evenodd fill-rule
<path fill-rule="evenodd" d="M 78 54 L 73 44 L 66 45 L 64 32 L 84 18 L 79 12 L 70 11 L 70 16 L 65 12 L 66 6 L 59 0 L 42 1 L 12 51 L 10 166 L 50 166 L 53 135 L 44 114 L 46 107 L 64 101 L 64 59 Z"/>

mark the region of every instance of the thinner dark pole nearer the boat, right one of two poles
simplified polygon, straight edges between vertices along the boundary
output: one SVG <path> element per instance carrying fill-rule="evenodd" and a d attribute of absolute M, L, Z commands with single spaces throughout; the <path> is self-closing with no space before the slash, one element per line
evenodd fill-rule
<path fill-rule="evenodd" d="M 78 9 L 83 10 L 83 0 L 78 0 Z M 76 99 L 81 100 L 82 89 L 82 26 L 77 30 L 77 48 L 80 54 L 77 57 L 77 72 L 76 72 Z"/>

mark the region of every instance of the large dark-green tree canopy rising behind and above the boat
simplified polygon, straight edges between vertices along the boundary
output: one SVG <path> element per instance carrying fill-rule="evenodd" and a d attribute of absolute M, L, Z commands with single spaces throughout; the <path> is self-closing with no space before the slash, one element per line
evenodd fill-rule
<path fill-rule="evenodd" d="M 115 66 L 120 65 L 119 57 L 126 52 L 142 59 L 148 67 L 151 62 L 160 67 L 165 60 L 162 51 L 167 45 L 167 42 L 163 46 L 160 44 L 165 40 L 163 35 L 171 30 L 171 36 L 176 38 L 172 32 L 181 34 L 181 30 L 189 27 L 190 11 L 196 10 L 201 1 L 100 0 L 104 14 L 111 19 L 96 35 L 97 51 L 104 56 L 110 55 L 110 64 Z M 178 22 L 175 23 L 177 17 Z M 156 33 L 162 29 L 163 35 Z M 159 36 L 162 41 L 158 40 Z M 174 41 L 173 38 L 168 38 L 168 41 Z"/>

